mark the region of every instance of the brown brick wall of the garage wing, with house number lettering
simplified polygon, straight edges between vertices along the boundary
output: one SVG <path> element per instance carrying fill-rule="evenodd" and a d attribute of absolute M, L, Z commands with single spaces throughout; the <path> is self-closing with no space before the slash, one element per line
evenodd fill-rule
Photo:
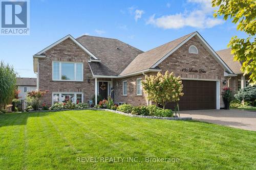
<path fill-rule="evenodd" d="M 188 53 L 188 48 L 190 45 L 197 46 L 199 54 Z M 181 76 L 182 78 L 220 80 L 220 107 L 224 107 L 221 96 L 221 91 L 224 87 L 223 81 L 226 79 L 224 77 L 224 69 L 206 51 L 206 49 L 197 40 L 196 37 L 193 37 L 189 41 L 187 41 L 176 52 L 167 57 L 158 66 L 162 69 L 163 73 L 166 70 L 169 70 L 170 72 L 174 71 L 175 76 Z M 181 71 L 182 68 L 204 69 L 206 73 L 183 72 Z M 136 78 L 138 77 L 142 77 L 144 79 L 143 75 L 138 75 L 113 81 L 115 87 L 115 102 L 126 102 L 135 106 L 146 104 L 144 92 L 143 96 L 136 96 Z M 127 80 L 127 96 L 122 96 L 123 80 Z"/>

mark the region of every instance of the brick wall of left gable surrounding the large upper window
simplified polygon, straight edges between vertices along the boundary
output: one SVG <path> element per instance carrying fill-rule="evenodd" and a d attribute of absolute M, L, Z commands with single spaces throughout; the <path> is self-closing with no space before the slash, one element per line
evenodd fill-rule
<path fill-rule="evenodd" d="M 92 72 L 89 68 L 89 55 L 84 52 L 71 39 L 66 39 L 46 51 L 45 59 L 39 59 L 39 89 L 50 90 L 44 96 L 42 102 L 48 106 L 52 105 L 52 92 L 83 92 L 83 102 L 93 98 L 95 81 L 92 79 Z M 52 80 L 52 62 L 68 61 L 83 63 L 83 81 L 53 81 Z M 88 79 L 91 82 L 88 83 Z"/>

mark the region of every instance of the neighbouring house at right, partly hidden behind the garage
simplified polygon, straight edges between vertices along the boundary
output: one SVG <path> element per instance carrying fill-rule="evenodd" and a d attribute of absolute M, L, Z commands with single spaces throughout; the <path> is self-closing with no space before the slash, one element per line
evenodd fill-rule
<path fill-rule="evenodd" d="M 231 48 L 220 50 L 216 52 L 221 59 L 229 66 L 235 75 L 231 75 L 227 81 L 228 87 L 233 91 L 238 91 L 249 85 L 249 75 L 243 76 L 244 72 L 241 71 L 242 63 L 234 61 L 234 56 L 231 54 Z"/>

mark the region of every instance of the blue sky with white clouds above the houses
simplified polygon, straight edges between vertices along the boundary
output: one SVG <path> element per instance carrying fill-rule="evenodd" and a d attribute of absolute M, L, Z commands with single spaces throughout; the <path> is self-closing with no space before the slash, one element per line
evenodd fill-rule
<path fill-rule="evenodd" d="M 36 77 L 33 55 L 68 34 L 117 38 L 148 51 L 198 31 L 215 51 L 222 50 L 232 36 L 246 35 L 230 20 L 213 18 L 210 1 L 30 0 L 30 35 L 0 35 L 0 60 L 20 77 Z"/>

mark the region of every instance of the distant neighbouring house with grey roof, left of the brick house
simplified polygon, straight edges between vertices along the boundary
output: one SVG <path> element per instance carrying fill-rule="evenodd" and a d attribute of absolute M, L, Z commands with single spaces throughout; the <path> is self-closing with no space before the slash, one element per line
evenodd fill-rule
<path fill-rule="evenodd" d="M 16 78 L 16 85 L 20 90 L 19 99 L 25 99 L 27 92 L 36 90 L 36 78 Z"/>

